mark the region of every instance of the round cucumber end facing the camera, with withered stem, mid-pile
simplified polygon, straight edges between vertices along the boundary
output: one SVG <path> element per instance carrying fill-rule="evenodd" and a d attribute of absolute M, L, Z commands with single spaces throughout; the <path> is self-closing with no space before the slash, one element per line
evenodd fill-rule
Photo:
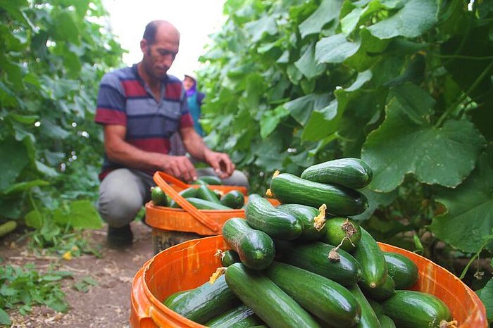
<path fill-rule="evenodd" d="M 337 246 L 344 237 L 350 236 L 349 239 L 346 238 L 342 241 L 341 248 L 350 252 L 358 246 L 361 239 L 361 228 L 356 221 L 348 217 L 333 217 L 325 221 L 325 227 L 325 234 L 320 241 Z"/>

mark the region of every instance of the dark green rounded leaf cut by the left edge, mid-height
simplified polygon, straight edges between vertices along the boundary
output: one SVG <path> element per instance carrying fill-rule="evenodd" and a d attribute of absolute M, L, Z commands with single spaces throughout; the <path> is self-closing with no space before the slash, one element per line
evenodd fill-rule
<path fill-rule="evenodd" d="M 0 153 L 4 156 L 0 160 L 0 191 L 4 191 L 17 179 L 29 158 L 23 143 L 11 137 L 0 141 Z"/>

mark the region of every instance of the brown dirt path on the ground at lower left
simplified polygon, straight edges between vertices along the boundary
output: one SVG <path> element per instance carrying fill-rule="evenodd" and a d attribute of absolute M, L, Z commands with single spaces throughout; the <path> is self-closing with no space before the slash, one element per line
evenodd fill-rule
<path fill-rule="evenodd" d="M 141 222 L 132 222 L 134 245 L 125 250 L 106 248 L 106 228 L 92 232 L 90 239 L 103 245 L 102 258 L 82 256 L 62 260 L 60 270 L 73 272 L 73 279 L 63 280 L 63 291 L 67 295 L 70 310 L 56 313 L 46 307 L 36 307 L 30 315 L 21 316 L 13 311 L 11 327 L 130 327 L 130 286 L 132 278 L 146 260 L 154 255 L 151 228 Z M 11 248 L 15 234 L 1 240 L 0 254 L 3 264 L 24 265 L 35 263 L 46 267 L 49 260 L 25 258 L 22 245 Z M 75 291 L 72 286 L 84 277 L 92 277 L 97 285 L 89 291 Z M 0 326 L 1 327 L 1 326 Z"/>

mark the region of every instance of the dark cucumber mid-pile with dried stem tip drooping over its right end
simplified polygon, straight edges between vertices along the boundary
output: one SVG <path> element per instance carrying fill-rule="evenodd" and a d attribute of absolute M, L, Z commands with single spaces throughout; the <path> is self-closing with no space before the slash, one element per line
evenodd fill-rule
<path fill-rule="evenodd" d="M 301 267 L 323 277 L 351 286 L 361 279 L 361 266 L 346 251 L 339 250 L 340 260 L 333 262 L 327 258 L 332 245 L 314 241 L 308 244 L 295 244 L 286 241 L 276 241 L 280 253 L 280 261 Z"/>

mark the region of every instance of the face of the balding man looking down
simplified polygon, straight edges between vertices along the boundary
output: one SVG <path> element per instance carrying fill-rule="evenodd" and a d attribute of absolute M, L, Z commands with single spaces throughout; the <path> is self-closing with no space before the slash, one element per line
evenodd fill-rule
<path fill-rule="evenodd" d="M 179 44 L 180 37 L 166 26 L 158 27 L 154 44 L 142 40 L 141 49 L 144 53 L 142 64 L 147 75 L 162 80 L 175 61 Z"/>

